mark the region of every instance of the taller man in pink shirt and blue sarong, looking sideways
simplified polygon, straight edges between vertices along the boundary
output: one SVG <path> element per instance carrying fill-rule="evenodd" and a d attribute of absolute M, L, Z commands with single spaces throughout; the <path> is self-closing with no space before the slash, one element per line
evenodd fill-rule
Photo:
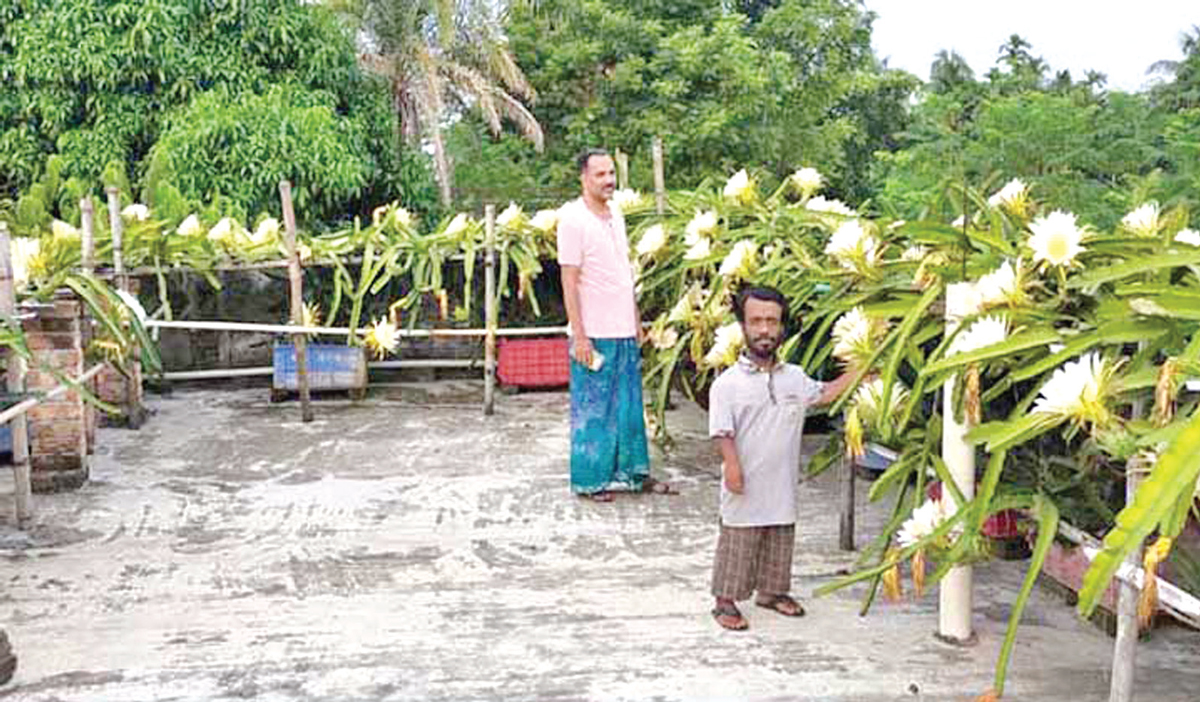
<path fill-rule="evenodd" d="M 583 194 L 558 212 L 558 263 L 571 334 L 571 491 L 600 502 L 613 488 L 670 492 L 649 476 L 642 418 L 642 325 L 625 218 L 607 152 L 578 158 Z"/>

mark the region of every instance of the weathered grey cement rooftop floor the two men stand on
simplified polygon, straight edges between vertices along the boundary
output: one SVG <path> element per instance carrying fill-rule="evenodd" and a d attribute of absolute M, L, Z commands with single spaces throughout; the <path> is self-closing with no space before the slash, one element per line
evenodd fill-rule
<path fill-rule="evenodd" d="M 328 401 L 266 390 L 150 397 L 101 430 L 92 481 L 13 527 L 0 472 L 6 702 L 332 700 L 970 700 L 990 686 L 1025 563 L 976 569 L 979 643 L 932 636 L 937 594 L 810 600 L 850 568 L 832 473 L 800 485 L 796 593 L 809 616 L 709 617 L 718 466 L 703 413 L 670 413 L 655 455 L 676 497 L 571 497 L 565 394 L 440 383 Z M 862 497 L 859 540 L 886 505 Z M 1108 698 L 1112 642 L 1038 589 L 1006 700 Z M 1138 698 L 1200 698 L 1200 635 L 1159 628 Z"/>

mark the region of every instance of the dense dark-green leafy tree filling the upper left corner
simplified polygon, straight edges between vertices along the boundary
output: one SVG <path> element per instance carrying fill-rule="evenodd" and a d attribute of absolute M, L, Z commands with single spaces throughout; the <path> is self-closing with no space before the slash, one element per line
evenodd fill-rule
<path fill-rule="evenodd" d="M 306 164 L 271 169 L 272 178 L 290 178 L 306 191 L 323 193 L 313 200 L 320 209 L 301 215 L 337 217 L 383 198 L 421 197 L 427 180 L 418 176 L 422 158 L 397 151 L 395 120 L 379 109 L 388 104 L 386 86 L 359 68 L 349 34 L 322 7 L 301 0 L 5 5 L 0 187 L 11 196 L 32 187 L 54 154 L 62 157 L 65 180 L 94 187 L 106 172 L 116 180 L 146 182 L 154 152 L 160 166 L 176 167 L 184 196 L 220 193 L 242 209 L 259 206 L 275 193 L 264 178 L 247 176 L 264 161 Z M 208 164 L 208 179 L 184 173 L 182 164 L 203 162 L 200 149 L 214 143 L 196 130 L 191 133 L 197 138 L 188 142 L 180 115 L 230 125 L 230 115 L 246 116 L 253 96 L 282 95 L 276 90 L 286 90 L 290 100 L 269 112 L 284 134 L 300 138 L 257 134 L 262 142 L 251 150 L 253 160 L 228 160 L 223 154 L 241 149 L 235 142 L 247 133 L 229 126 L 214 152 L 226 170 Z M 205 97 L 210 92 L 220 97 Z M 324 106 L 326 115 L 320 128 L 312 122 L 316 104 Z M 173 142 L 156 148 L 164 130 Z M 326 143 L 329 138 L 335 143 Z M 282 150 L 284 144 L 289 151 Z M 328 152 L 343 158 L 314 157 Z M 353 182 L 346 169 L 358 170 Z"/>

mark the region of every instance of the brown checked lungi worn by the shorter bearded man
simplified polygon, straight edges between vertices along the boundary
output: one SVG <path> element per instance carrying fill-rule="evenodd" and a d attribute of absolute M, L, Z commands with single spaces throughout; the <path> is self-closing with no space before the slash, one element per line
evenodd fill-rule
<path fill-rule="evenodd" d="M 760 595 L 784 595 L 792 589 L 792 552 L 796 524 L 726 527 L 716 538 L 713 595 L 745 600 Z"/>

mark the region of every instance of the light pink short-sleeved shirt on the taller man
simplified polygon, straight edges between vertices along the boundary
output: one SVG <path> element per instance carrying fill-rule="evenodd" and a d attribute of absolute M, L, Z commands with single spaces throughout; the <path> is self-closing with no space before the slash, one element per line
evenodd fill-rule
<path fill-rule="evenodd" d="M 616 206 L 610 211 L 611 217 L 600 217 L 583 198 L 559 208 L 558 263 L 580 266 L 580 316 L 587 335 L 632 338 L 637 319 L 625 217 Z"/>

